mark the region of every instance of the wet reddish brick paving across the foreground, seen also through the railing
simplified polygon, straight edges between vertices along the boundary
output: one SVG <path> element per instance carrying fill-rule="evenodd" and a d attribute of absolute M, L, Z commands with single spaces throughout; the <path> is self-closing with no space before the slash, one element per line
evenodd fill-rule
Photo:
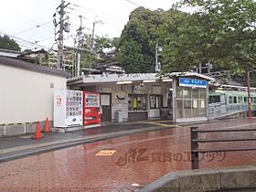
<path fill-rule="evenodd" d="M 256 127 L 256 119 L 198 126 L 252 128 Z M 166 127 L 1 163 L 0 191 L 135 191 L 170 171 L 191 168 L 188 128 Z M 251 165 L 256 163 L 255 157 L 254 152 L 210 154 L 204 156 L 200 167 Z"/>

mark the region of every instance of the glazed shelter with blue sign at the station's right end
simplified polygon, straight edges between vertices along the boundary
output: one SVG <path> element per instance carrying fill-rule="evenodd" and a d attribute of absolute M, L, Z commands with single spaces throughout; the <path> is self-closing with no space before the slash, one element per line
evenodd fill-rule
<path fill-rule="evenodd" d="M 168 74 L 173 79 L 173 120 L 176 123 L 208 120 L 208 81 L 215 80 L 195 72 Z"/>

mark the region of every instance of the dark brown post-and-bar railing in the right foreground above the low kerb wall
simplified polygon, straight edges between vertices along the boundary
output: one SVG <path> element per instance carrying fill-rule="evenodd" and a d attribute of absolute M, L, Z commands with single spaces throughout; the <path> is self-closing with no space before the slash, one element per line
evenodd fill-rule
<path fill-rule="evenodd" d="M 256 129 L 215 129 L 215 130 L 199 130 L 197 127 L 190 127 L 190 138 L 191 138 L 191 168 L 199 168 L 198 155 L 205 153 L 215 152 L 236 152 L 236 151 L 253 151 L 255 147 L 246 148 L 226 148 L 226 149 L 200 149 L 199 144 L 202 143 L 228 143 L 228 142 L 247 142 L 256 141 L 256 137 L 248 138 L 214 138 L 214 139 L 200 139 L 199 133 L 234 133 L 234 132 L 252 132 Z"/>

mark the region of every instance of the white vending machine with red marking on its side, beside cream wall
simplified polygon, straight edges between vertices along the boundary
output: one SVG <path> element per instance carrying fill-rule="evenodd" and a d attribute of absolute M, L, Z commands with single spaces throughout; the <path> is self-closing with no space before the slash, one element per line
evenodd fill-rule
<path fill-rule="evenodd" d="M 82 91 L 55 91 L 54 127 L 82 125 L 82 102 Z"/>

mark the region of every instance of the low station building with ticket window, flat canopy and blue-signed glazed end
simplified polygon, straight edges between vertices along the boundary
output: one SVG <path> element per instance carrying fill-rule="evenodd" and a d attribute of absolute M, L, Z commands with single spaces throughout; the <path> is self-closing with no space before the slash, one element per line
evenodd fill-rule
<path fill-rule="evenodd" d="M 208 120 L 208 81 L 194 72 L 99 74 L 68 80 L 69 89 L 101 93 L 101 121 Z M 121 120 L 120 120 L 121 116 Z"/>

